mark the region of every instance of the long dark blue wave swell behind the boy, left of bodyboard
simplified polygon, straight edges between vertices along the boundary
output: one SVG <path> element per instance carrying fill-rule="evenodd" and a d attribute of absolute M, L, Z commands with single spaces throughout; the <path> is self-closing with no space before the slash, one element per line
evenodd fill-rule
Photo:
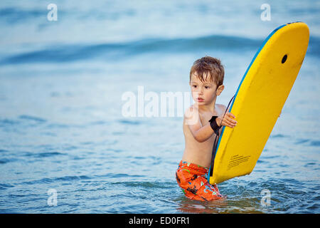
<path fill-rule="evenodd" d="M 198 38 L 147 38 L 125 43 L 54 45 L 37 51 L 4 56 L 0 65 L 19 63 L 64 63 L 102 59 L 116 61 L 144 53 L 188 53 L 194 51 L 255 50 L 262 40 L 235 36 L 203 36 Z"/>

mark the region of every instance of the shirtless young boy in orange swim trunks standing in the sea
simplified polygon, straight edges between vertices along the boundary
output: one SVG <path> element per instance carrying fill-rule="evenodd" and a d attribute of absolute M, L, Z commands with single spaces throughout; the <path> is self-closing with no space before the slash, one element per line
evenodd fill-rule
<path fill-rule="evenodd" d="M 215 135 L 222 126 L 234 128 L 237 121 L 225 113 L 225 105 L 215 103 L 223 91 L 224 68 L 220 60 L 210 56 L 198 59 L 190 71 L 193 100 L 183 118 L 185 150 L 176 170 L 176 181 L 189 199 L 220 199 L 218 187 L 207 180 Z M 224 115 L 225 113 L 225 115 Z"/>

